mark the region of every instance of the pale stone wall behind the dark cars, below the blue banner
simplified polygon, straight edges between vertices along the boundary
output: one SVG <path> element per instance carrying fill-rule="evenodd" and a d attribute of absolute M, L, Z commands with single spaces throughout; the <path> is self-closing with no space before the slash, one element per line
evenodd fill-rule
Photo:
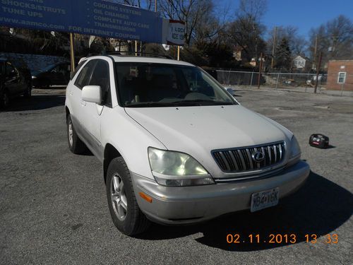
<path fill-rule="evenodd" d="M 64 57 L 49 56 L 42 54 L 17 54 L 9 52 L 0 52 L 0 57 L 11 57 L 15 59 L 23 59 L 28 64 L 30 71 L 38 71 L 49 66 L 50 64 L 57 64 L 68 61 Z"/>

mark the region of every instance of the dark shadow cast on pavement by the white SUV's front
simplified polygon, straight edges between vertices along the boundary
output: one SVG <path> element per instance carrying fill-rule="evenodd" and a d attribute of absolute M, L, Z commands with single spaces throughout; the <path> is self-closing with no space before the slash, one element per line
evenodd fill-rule
<path fill-rule="evenodd" d="M 312 234 L 317 236 L 316 244 L 325 244 L 326 237 L 319 237 L 339 228 L 352 216 L 352 211 L 352 193 L 311 172 L 306 184 L 296 194 L 282 199 L 280 205 L 274 208 L 256 213 L 233 213 L 199 225 L 172 227 L 152 224 L 150 230 L 138 238 L 165 240 L 201 232 L 203 236 L 196 241 L 233 252 L 251 252 L 292 245 L 289 242 L 291 240 L 294 244 L 306 242 L 305 235 L 309 235 L 312 240 Z M 233 242 L 239 235 L 239 243 L 229 244 L 229 234 L 232 236 L 229 236 L 228 240 Z M 271 234 L 280 236 L 276 238 Z M 291 234 L 295 235 L 295 242 Z M 249 235 L 253 235 L 253 243 L 250 242 Z M 273 237 L 275 243 L 270 243 Z"/>

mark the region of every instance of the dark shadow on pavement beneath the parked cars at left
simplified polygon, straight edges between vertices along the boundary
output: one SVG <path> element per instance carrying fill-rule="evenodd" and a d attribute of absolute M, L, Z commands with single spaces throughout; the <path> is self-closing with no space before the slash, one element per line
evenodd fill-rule
<path fill-rule="evenodd" d="M 65 95 L 32 95 L 30 99 L 23 97 L 11 99 L 10 106 L 6 110 L 1 110 L 1 112 L 44 110 L 64 105 Z"/>

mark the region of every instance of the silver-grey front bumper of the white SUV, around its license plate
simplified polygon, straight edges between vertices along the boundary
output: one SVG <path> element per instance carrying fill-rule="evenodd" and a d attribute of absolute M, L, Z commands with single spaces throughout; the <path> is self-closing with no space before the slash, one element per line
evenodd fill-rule
<path fill-rule="evenodd" d="M 148 218 L 157 223 L 186 224 L 248 209 L 255 192 L 279 187 L 283 198 L 304 184 L 309 172 L 309 165 L 299 161 L 265 179 L 193 187 L 164 187 L 133 172 L 131 177 L 138 206 Z M 141 198 L 139 192 L 151 196 L 152 202 Z"/>

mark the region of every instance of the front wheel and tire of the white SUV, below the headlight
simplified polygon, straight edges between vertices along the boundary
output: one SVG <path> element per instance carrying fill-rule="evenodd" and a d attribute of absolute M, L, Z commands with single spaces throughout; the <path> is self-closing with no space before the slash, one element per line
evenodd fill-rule
<path fill-rule="evenodd" d="M 123 158 L 114 158 L 107 170 L 107 199 L 116 228 L 125 235 L 144 232 L 149 220 L 138 207 L 130 172 Z"/>

